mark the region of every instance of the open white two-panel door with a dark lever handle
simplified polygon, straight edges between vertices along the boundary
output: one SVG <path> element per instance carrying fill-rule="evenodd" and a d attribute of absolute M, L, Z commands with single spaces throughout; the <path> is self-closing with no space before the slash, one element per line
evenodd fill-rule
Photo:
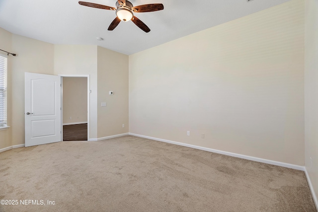
<path fill-rule="evenodd" d="M 61 141 L 61 76 L 25 72 L 25 146 Z"/>

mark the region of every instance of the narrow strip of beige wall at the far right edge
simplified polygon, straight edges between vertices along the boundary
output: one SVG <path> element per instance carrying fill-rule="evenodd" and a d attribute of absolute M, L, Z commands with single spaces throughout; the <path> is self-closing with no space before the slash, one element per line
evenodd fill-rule
<path fill-rule="evenodd" d="M 318 196 L 318 0 L 305 2 L 305 160 Z"/>

